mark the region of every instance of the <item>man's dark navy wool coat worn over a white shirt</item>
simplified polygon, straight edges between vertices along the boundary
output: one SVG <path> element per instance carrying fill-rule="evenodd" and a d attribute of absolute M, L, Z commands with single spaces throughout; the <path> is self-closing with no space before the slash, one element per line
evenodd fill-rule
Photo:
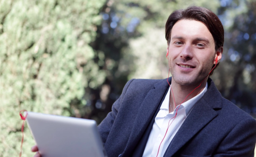
<path fill-rule="evenodd" d="M 207 92 L 185 119 L 164 157 L 253 157 L 256 120 L 224 99 L 210 78 L 207 82 Z M 133 154 L 135 150 L 143 153 L 147 137 L 144 142 L 141 139 L 150 132 L 168 87 L 166 79 L 128 81 L 112 112 L 98 126 L 109 157 L 140 156 Z"/>

